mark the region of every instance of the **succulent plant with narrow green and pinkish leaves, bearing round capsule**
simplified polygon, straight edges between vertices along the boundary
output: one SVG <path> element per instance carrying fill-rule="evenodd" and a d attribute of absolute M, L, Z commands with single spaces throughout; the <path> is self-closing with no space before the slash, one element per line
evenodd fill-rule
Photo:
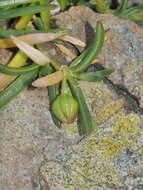
<path fill-rule="evenodd" d="M 31 83 L 37 88 L 47 87 L 54 124 L 60 128 L 61 122 L 71 123 L 77 117 L 80 121 L 77 125 L 79 134 L 88 134 L 93 129 L 92 118 L 78 81 L 100 81 L 113 72 L 112 69 L 85 72 L 101 51 L 104 27 L 101 22 L 97 22 L 95 39 L 90 47 L 85 48 L 84 42 L 69 36 L 69 30 L 49 29 L 49 11 L 53 9 L 49 0 L 36 0 L 35 4 L 33 2 L 34 0 L 17 0 L 14 7 L 11 0 L 0 2 L 0 19 L 21 16 L 18 21 L 16 20 L 15 29 L 0 29 L 0 37 L 3 38 L 0 39 L 0 48 L 19 49 L 7 66 L 0 65 L 0 108 Z M 27 3 L 32 5 L 29 6 Z M 62 6 L 64 10 L 65 5 Z M 31 20 L 35 28 L 27 29 Z M 65 50 L 65 40 L 85 48 L 79 56 L 72 54 L 73 60 L 67 66 L 61 65 L 53 57 L 46 56 L 41 45 L 52 41 L 69 53 L 68 49 Z M 27 58 L 34 64 L 23 66 Z"/>

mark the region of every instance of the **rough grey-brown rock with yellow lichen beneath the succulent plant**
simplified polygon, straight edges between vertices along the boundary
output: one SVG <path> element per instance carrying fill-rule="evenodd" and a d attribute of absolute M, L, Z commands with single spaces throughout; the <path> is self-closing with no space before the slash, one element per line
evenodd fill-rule
<path fill-rule="evenodd" d="M 78 136 L 76 123 L 53 126 L 45 90 L 25 90 L 0 110 L 0 190 L 142 190 L 142 28 L 84 7 L 54 19 L 88 44 L 102 21 L 111 35 L 101 65 L 115 72 L 80 82 L 94 120 L 88 137 Z"/>

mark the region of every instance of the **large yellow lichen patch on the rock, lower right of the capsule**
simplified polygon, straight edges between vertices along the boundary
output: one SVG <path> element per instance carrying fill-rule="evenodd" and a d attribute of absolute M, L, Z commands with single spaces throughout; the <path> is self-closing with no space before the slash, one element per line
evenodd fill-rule
<path fill-rule="evenodd" d="M 97 88 L 92 88 L 92 93 L 91 88 L 88 93 L 85 92 L 92 117 L 95 118 L 94 130 L 78 145 L 74 145 L 69 159 L 62 163 L 68 178 L 64 180 L 63 190 L 103 190 L 108 183 L 113 184 L 115 188 L 121 187 L 121 177 L 114 160 L 130 147 L 137 151 L 136 154 L 143 154 L 143 150 L 138 148 L 136 143 L 141 132 L 140 116 L 127 114 L 123 107 L 124 100 L 113 101 L 110 98 L 111 92 L 108 92 L 103 84 L 95 86 Z M 97 97 L 97 94 L 100 97 Z M 64 129 L 74 135 L 77 134 L 75 126 L 76 124 Z"/>

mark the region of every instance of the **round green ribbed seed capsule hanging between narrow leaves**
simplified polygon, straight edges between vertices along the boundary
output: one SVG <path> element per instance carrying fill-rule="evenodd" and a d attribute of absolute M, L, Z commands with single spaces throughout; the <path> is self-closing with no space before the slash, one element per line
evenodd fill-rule
<path fill-rule="evenodd" d="M 72 123 L 78 113 L 76 100 L 68 94 L 61 94 L 52 105 L 55 116 L 64 123 Z"/>

